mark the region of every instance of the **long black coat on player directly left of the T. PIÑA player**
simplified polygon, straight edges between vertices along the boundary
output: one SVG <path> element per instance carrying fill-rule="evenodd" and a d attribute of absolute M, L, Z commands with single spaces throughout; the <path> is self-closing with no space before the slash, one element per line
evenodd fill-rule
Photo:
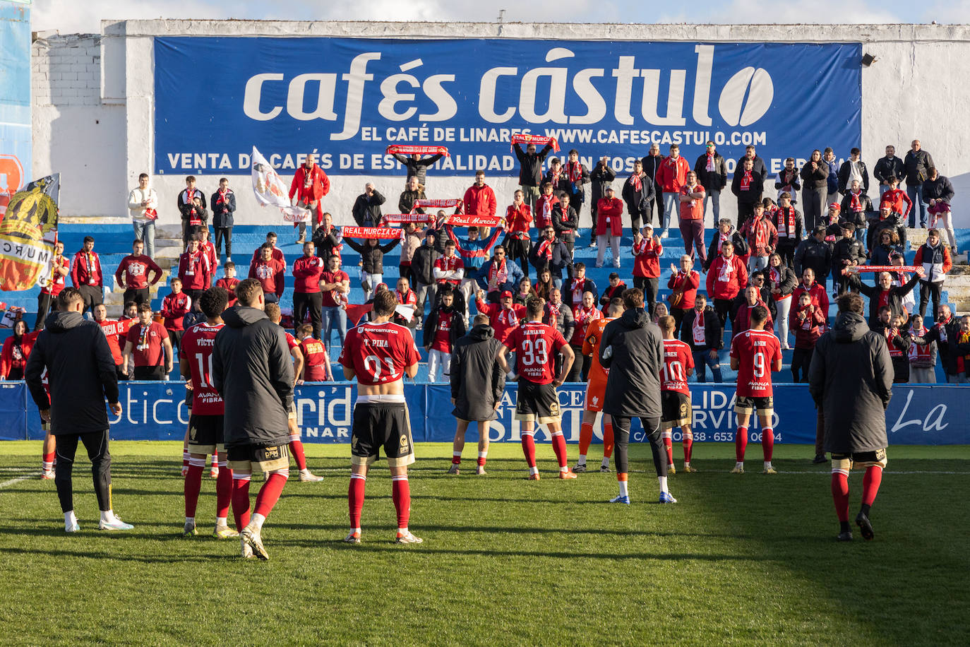
<path fill-rule="evenodd" d="M 293 360 L 283 329 L 266 312 L 237 305 L 212 348 L 212 385 L 225 403 L 226 447 L 285 445 L 293 404 Z"/>

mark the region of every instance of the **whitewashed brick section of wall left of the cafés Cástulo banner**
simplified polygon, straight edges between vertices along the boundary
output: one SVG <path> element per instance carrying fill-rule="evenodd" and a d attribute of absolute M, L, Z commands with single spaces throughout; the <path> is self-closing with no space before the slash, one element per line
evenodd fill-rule
<path fill-rule="evenodd" d="M 101 96 L 101 36 L 49 36 L 31 52 L 35 106 L 97 106 Z"/>

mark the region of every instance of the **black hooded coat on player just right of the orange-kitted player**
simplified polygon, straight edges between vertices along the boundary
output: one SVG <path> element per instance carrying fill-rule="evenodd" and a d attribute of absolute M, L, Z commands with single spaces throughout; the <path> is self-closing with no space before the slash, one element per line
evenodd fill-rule
<path fill-rule="evenodd" d="M 657 418 L 659 423 L 663 337 L 643 308 L 626 310 L 606 324 L 599 361 L 609 370 L 603 413 Z"/>

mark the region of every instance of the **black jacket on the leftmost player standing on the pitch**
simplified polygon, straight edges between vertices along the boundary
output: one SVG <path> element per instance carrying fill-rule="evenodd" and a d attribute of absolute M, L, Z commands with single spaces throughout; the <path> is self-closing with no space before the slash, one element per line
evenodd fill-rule
<path fill-rule="evenodd" d="M 50 433 L 107 430 L 105 399 L 118 402 L 118 381 L 112 350 L 101 326 L 84 321 L 81 312 L 53 312 L 44 326 L 34 341 L 23 376 L 37 408 L 50 409 Z M 49 398 L 41 382 L 45 369 Z"/>

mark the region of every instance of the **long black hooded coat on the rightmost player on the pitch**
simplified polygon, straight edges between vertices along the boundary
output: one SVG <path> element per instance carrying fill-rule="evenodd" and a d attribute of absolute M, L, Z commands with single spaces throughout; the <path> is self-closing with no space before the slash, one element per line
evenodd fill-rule
<path fill-rule="evenodd" d="M 885 449 L 886 407 L 892 397 L 886 339 L 857 312 L 841 312 L 815 344 L 808 390 L 825 417 L 825 451 Z"/>

